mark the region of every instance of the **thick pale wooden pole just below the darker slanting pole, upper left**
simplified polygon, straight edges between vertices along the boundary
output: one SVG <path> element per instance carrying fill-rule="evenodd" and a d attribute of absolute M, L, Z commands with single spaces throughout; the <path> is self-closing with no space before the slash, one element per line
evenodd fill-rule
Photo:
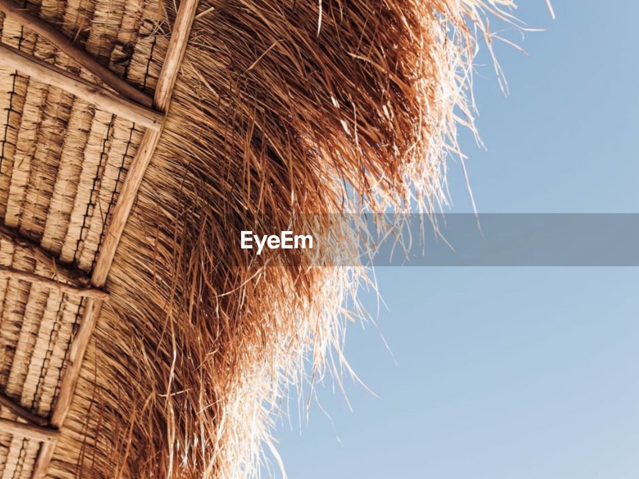
<path fill-rule="evenodd" d="M 51 65 L 35 56 L 27 55 L 8 45 L 0 43 L 0 65 L 29 75 L 34 80 L 61 88 L 82 98 L 96 107 L 114 115 L 130 119 L 137 125 L 150 130 L 160 130 L 164 116 L 157 111 L 142 107 L 137 103 L 111 93 L 104 87 L 92 84 L 58 66 Z"/>

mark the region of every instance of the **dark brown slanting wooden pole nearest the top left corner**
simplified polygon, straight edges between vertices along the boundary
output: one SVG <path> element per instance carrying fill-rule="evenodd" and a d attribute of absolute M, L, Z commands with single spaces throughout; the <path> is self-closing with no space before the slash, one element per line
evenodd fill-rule
<path fill-rule="evenodd" d="M 109 68 L 98 63 L 93 56 L 75 46 L 73 42 L 66 38 L 58 29 L 50 26 L 40 17 L 32 15 L 29 10 L 22 8 L 22 5 L 15 3 L 13 0 L 0 0 L 0 11 L 3 11 L 4 15 L 10 19 L 15 20 L 22 26 L 27 27 L 27 29 L 34 31 L 42 38 L 48 40 L 58 47 L 59 50 L 65 52 L 73 61 L 79 63 L 82 68 L 93 73 L 97 79 L 104 82 L 104 84 L 114 89 L 114 91 L 120 95 L 140 103 L 145 107 L 151 107 L 151 105 L 153 105 L 153 100 L 150 96 L 142 93 L 118 77 L 118 75 L 109 70 Z"/>

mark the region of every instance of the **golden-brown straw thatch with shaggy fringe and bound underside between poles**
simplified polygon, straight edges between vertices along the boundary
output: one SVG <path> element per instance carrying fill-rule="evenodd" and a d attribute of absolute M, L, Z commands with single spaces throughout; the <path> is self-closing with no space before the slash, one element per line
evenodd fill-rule
<path fill-rule="evenodd" d="M 153 95 L 176 4 L 28 5 Z M 142 128 L 0 59 L 0 266 L 71 288 L 0 277 L 0 387 L 60 428 L 50 443 L 0 430 L 2 477 L 31 476 L 38 455 L 39 472 L 59 478 L 255 475 L 272 413 L 304 358 L 319 376 L 325 354 L 339 350 L 341 305 L 358 272 L 305 268 L 301 254 L 284 267 L 255 266 L 237 248 L 238 231 L 280 231 L 296 213 L 404 209 L 413 199 L 435 208 L 456 124 L 472 118 L 472 25 L 510 5 L 199 1 L 119 244 L 105 229 Z M 0 29 L 4 45 L 93 81 L 76 57 L 15 19 Z M 331 222 L 307 226 L 327 232 Z M 100 273 L 109 292 L 100 312 L 91 301 L 102 299 L 86 298 L 100 292 L 77 273 L 94 270 L 102 286 L 95 268 L 109 241 L 118 249 Z M 88 309 L 97 323 L 85 354 L 70 345 L 92 332 L 82 330 Z M 75 388 L 61 386 L 70 364 Z M 61 390 L 72 402 L 52 413 Z M 18 415 L 0 408 L 4 420 Z"/>

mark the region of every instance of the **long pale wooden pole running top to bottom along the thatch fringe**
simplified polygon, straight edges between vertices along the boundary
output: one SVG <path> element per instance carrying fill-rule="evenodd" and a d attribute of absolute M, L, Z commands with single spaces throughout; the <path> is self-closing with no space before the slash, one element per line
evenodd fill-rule
<path fill-rule="evenodd" d="M 153 95 L 153 105 L 161 112 L 166 112 L 169 109 L 173 88 L 180 72 L 180 65 L 187 49 L 187 43 L 189 42 L 189 34 L 196 15 L 197 2 L 198 0 L 182 0 L 176 15 L 166 59 L 158 78 L 158 88 L 155 91 L 155 95 Z M 150 163 L 151 157 L 160 141 L 161 132 L 161 129 L 157 132 L 151 130 L 144 132 L 142 142 L 135 152 L 122 191 L 107 225 L 107 231 L 105 232 L 102 247 L 100 247 L 98 252 L 95 268 L 93 268 L 91 284 L 95 287 L 104 287 L 106 284 L 113 258 L 118 249 L 119 240 L 133 208 L 146 167 Z M 80 327 L 73 338 L 65 375 L 60 385 L 58 400 L 56 400 L 51 416 L 51 423 L 55 427 L 61 428 L 66 420 L 80 376 L 82 360 L 84 360 L 84 354 L 93 330 L 95 330 L 101 309 L 102 301 L 100 300 L 89 298 L 86 302 Z M 47 468 L 55 449 L 56 445 L 54 443 L 42 445 L 33 469 L 33 479 L 43 479 L 47 475 Z"/>

